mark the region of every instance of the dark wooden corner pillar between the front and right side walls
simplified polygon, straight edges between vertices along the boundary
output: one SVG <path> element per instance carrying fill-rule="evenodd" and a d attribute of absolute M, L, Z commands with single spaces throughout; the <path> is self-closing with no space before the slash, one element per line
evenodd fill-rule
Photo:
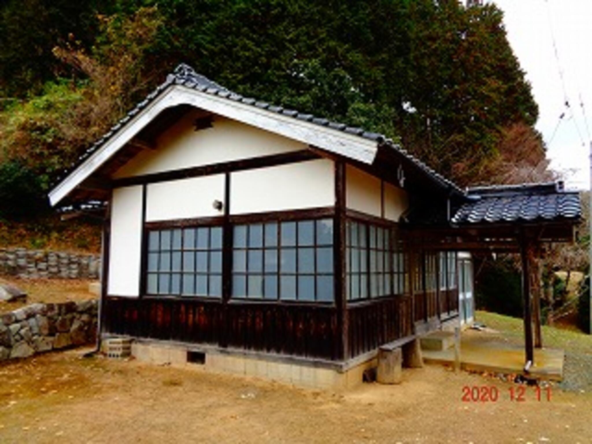
<path fill-rule="evenodd" d="M 335 267 L 334 294 L 337 310 L 337 343 L 340 359 L 349 358 L 348 301 L 346 295 L 345 269 L 345 163 L 335 161 L 335 214 L 333 218 L 333 264 Z"/>

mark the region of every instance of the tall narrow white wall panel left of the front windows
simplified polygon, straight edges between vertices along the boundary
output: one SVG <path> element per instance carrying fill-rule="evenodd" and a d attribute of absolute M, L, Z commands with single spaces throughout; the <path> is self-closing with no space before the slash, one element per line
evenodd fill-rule
<path fill-rule="evenodd" d="M 110 295 L 137 297 L 140 293 L 142 186 L 115 188 L 111 201 Z"/>

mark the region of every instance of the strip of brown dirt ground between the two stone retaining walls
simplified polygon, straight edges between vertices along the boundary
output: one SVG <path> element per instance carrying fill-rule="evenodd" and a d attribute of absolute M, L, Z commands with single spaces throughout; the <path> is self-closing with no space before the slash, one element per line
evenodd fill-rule
<path fill-rule="evenodd" d="M 58 303 L 95 299 L 96 295 L 88 291 L 90 282 L 92 281 L 86 279 L 19 279 L 2 276 L 0 283 L 12 284 L 20 288 L 27 293 L 27 301 L 25 303 L 0 301 L 0 313 L 37 302 Z"/>

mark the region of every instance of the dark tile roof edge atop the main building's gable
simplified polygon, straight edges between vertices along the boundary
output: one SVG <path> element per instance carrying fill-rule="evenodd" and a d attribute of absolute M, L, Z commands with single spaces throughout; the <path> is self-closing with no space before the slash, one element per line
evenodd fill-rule
<path fill-rule="evenodd" d="M 268 104 L 267 102 L 258 101 L 255 98 L 244 97 L 240 94 L 236 94 L 233 91 L 230 91 L 224 86 L 219 85 L 218 83 L 211 81 L 207 77 L 198 74 L 195 70 L 185 63 L 181 63 L 181 65 L 177 66 L 176 69 L 170 73 L 166 77 L 166 81 L 159 86 L 150 94 L 146 96 L 146 99 L 139 102 L 136 107 L 133 108 L 130 112 L 128 112 L 121 120 L 119 120 L 114 126 L 110 128 L 107 133 L 105 133 L 100 139 L 96 140 L 92 146 L 90 146 L 82 155 L 78 158 L 78 160 L 70 165 L 69 168 L 63 170 L 62 174 L 60 174 L 59 178 L 56 180 L 56 184 L 66 178 L 70 172 L 74 169 L 78 168 L 89 156 L 96 152 L 96 150 L 100 149 L 101 146 L 107 142 L 111 137 L 113 137 L 117 131 L 119 131 L 123 126 L 131 120 L 135 115 L 137 115 L 143 108 L 146 108 L 147 105 L 150 104 L 154 99 L 157 98 L 163 91 L 165 91 L 170 85 L 183 85 L 188 88 L 196 89 L 197 91 L 205 92 L 206 94 L 217 95 L 222 98 L 229 99 L 234 102 L 241 102 L 246 105 L 252 105 L 253 107 L 261 108 L 264 110 L 276 112 L 277 114 L 287 115 L 289 117 L 296 118 L 298 120 L 308 121 L 310 123 L 314 123 L 318 126 L 325 126 L 333 128 L 334 130 L 343 131 L 344 133 L 353 134 L 355 136 L 363 137 L 364 139 L 375 141 L 378 145 L 388 147 L 400 153 L 402 156 L 406 157 L 416 168 L 423 170 L 424 173 L 427 173 L 427 176 L 435 181 L 440 186 L 444 188 L 453 189 L 458 194 L 462 194 L 462 190 L 454 184 L 454 182 L 446 179 L 444 176 L 440 175 L 439 173 L 435 172 L 432 168 L 427 166 L 421 160 L 417 159 L 410 155 L 406 150 L 401 148 L 400 145 L 394 143 L 392 140 L 387 139 L 383 134 L 374 133 L 372 131 L 363 130 L 363 128 L 347 126 L 343 123 L 337 123 L 327 120 L 326 118 L 316 117 L 312 114 L 306 114 L 303 112 L 298 112 L 296 110 L 287 110 L 283 107 L 275 106 Z"/>

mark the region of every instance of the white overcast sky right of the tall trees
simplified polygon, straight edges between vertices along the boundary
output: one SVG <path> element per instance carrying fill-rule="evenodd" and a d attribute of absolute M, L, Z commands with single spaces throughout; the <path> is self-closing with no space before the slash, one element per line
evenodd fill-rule
<path fill-rule="evenodd" d="M 551 168 L 564 175 L 570 188 L 588 188 L 591 134 L 586 128 L 580 96 L 592 133 L 592 0 L 493 2 L 504 11 L 511 47 L 539 104 L 536 128 L 547 144 Z M 559 65 L 552 35 L 555 36 Z M 571 112 L 564 105 L 560 69 Z M 553 137 L 562 112 L 565 117 Z"/>

